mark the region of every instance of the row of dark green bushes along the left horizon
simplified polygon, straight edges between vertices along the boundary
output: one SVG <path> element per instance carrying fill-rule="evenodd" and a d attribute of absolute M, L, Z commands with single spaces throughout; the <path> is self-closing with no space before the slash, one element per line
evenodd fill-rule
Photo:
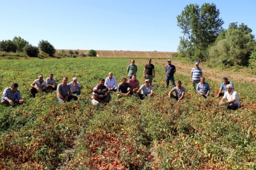
<path fill-rule="evenodd" d="M 15 36 L 13 40 L 2 40 L 0 41 L 0 51 L 4 52 L 25 52 L 29 57 L 38 57 L 39 52 L 43 51 L 48 54 L 50 57 L 54 57 L 55 48 L 47 40 L 41 40 L 38 43 L 38 46 L 32 46 L 28 41 L 24 40 L 21 37 Z M 78 55 L 77 51 L 73 52 L 69 50 L 70 55 Z M 61 51 L 61 54 L 64 55 L 64 50 Z M 97 56 L 97 52 L 91 49 L 87 54 L 82 54 L 82 56 Z"/>

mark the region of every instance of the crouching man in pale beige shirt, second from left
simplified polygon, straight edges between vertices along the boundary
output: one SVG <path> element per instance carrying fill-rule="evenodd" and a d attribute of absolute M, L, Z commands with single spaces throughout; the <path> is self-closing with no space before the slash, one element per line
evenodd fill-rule
<path fill-rule="evenodd" d="M 45 93 L 48 93 L 47 90 L 47 82 L 43 79 L 43 75 L 40 74 L 38 76 L 38 79 L 36 79 L 31 85 L 30 85 L 30 92 L 32 94 L 32 96 L 35 98 L 36 97 L 36 93 L 38 93 L 38 91 L 42 91 Z"/>

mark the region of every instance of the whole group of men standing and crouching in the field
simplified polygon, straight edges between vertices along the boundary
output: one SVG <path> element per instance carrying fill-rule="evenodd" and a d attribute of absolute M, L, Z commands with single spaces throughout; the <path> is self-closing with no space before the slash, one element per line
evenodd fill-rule
<path fill-rule="evenodd" d="M 117 96 L 128 96 L 135 94 L 139 99 L 143 99 L 144 97 L 152 97 L 153 96 L 153 87 L 152 82 L 153 78 L 155 78 L 155 66 L 151 64 L 151 58 L 148 59 L 148 63 L 145 64 L 143 71 L 143 78 L 145 78 L 145 83 L 143 85 L 139 85 L 139 80 L 136 79 L 136 73 L 138 71 L 138 67 L 135 65 L 135 60 L 131 60 L 131 64 L 127 67 L 128 80 L 123 78 L 119 85 L 117 85 L 117 81 L 115 77 L 113 77 L 113 73 L 110 72 L 106 79 L 99 79 L 98 84 L 93 88 L 91 101 L 93 105 L 97 105 L 99 103 L 109 103 L 111 100 L 111 91 L 117 91 Z M 182 87 L 182 82 L 179 80 L 174 81 L 174 73 L 176 73 L 176 67 L 171 63 L 171 60 L 167 60 L 167 65 L 165 66 L 166 73 L 166 88 L 169 87 L 170 82 L 173 85 L 173 88 L 169 91 L 169 98 L 176 99 L 180 102 L 186 93 L 186 89 Z M 199 63 L 195 62 L 195 67 L 191 70 L 190 80 L 193 84 L 193 87 L 198 92 L 199 95 L 207 98 L 210 94 L 210 86 L 207 82 L 205 82 L 205 78 L 202 76 L 202 69 L 199 67 Z M 81 85 L 77 82 L 77 78 L 74 77 L 73 81 L 67 83 L 68 78 L 63 77 L 61 84 L 57 86 L 56 79 L 53 78 L 53 73 L 49 74 L 49 77 L 44 80 L 42 75 L 38 76 L 31 85 L 30 91 L 32 96 L 35 98 L 36 93 L 39 91 L 48 93 L 48 90 L 56 90 L 57 91 L 57 101 L 59 103 L 64 103 L 70 100 L 77 100 L 78 95 L 81 93 Z M 222 93 L 223 90 L 223 93 Z M 173 95 L 175 92 L 175 95 Z M 76 94 L 76 95 L 72 95 Z M 234 85 L 232 82 L 228 81 L 227 77 L 223 77 L 223 83 L 220 85 L 220 90 L 216 97 L 223 96 L 220 101 L 220 105 L 224 104 L 225 99 L 228 101 L 226 105 L 229 109 L 237 109 L 240 106 L 239 97 L 236 91 L 234 91 Z M 10 104 L 22 104 L 23 100 L 20 96 L 20 91 L 18 90 L 18 84 L 12 83 L 11 87 L 6 88 L 2 95 L 1 103 L 5 106 Z"/>

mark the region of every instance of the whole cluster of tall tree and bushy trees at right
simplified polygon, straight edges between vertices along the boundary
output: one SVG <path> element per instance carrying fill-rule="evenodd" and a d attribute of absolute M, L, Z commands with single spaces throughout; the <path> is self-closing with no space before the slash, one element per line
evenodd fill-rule
<path fill-rule="evenodd" d="M 209 61 L 213 67 L 235 65 L 254 67 L 256 59 L 255 36 L 244 23 L 229 24 L 224 21 L 214 3 L 186 5 L 177 17 L 177 26 L 182 29 L 178 56 L 192 60 Z"/>

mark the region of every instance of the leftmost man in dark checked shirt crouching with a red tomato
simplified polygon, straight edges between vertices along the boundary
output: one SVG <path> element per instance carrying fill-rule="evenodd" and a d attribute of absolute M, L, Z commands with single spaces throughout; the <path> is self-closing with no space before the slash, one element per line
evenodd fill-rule
<path fill-rule="evenodd" d="M 10 106 L 12 104 L 19 105 L 24 101 L 20 96 L 20 90 L 18 90 L 18 83 L 12 83 L 11 87 L 8 87 L 4 90 L 2 95 L 1 103 L 4 106 Z"/>

